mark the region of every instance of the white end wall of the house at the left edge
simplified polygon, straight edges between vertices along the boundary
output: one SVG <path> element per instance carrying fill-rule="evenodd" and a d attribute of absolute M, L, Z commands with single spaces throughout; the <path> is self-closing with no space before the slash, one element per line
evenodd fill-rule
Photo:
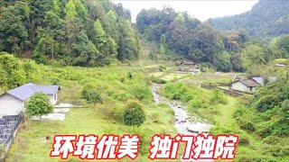
<path fill-rule="evenodd" d="M 23 101 L 10 94 L 0 96 L 0 116 L 18 115 L 19 112 L 23 112 L 23 106 Z"/>

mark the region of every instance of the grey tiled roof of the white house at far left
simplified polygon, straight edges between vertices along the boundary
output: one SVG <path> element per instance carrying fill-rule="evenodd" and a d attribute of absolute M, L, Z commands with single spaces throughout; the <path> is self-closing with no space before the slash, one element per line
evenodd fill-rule
<path fill-rule="evenodd" d="M 37 92 L 42 92 L 43 94 L 56 94 L 58 90 L 60 90 L 59 85 L 35 85 L 29 83 L 16 87 L 8 91 L 6 94 L 11 94 L 22 101 L 26 101 Z"/>

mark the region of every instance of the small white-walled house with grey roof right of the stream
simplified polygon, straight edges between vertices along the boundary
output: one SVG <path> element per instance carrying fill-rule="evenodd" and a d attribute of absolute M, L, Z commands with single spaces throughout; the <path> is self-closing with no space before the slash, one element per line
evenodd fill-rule
<path fill-rule="evenodd" d="M 275 76 L 266 77 L 267 82 L 276 80 Z M 264 77 L 252 77 L 250 79 L 237 79 L 231 83 L 230 88 L 239 92 L 255 93 L 257 86 L 265 85 L 266 79 Z"/>

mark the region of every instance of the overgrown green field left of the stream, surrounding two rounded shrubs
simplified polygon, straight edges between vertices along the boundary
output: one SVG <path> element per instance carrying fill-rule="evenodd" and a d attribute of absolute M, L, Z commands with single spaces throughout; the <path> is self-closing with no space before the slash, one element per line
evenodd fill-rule
<path fill-rule="evenodd" d="M 61 103 L 84 104 L 85 108 L 71 108 L 65 121 L 24 122 L 6 161 L 59 161 L 60 158 L 49 157 L 53 135 L 90 133 L 100 136 L 104 133 L 137 133 L 142 143 L 136 161 L 146 161 L 149 142 L 154 134 L 176 134 L 172 109 L 154 103 L 150 79 L 142 70 L 114 65 L 96 68 L 33 66 L 36 70 L 28 78 L 31 82 L 61 85 Z M 89 104 L 82 99 L 81 91 L 87 84 L 93 85 L 101 94 L 102 103 Z M 145 121 L 139 128 L 123 124 L 124 107 L 132 99 L 144 106 Z"/>

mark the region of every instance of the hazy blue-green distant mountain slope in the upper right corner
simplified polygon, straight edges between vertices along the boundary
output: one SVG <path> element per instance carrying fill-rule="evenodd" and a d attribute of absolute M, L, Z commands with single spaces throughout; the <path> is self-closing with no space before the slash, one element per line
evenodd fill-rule
<path fill-rule="evenodd" d="M 221 30 L 242 29 L 253 37 L 288 34 L 289 1 L 260 0 L 245 14 L 212 19 Z"/>

